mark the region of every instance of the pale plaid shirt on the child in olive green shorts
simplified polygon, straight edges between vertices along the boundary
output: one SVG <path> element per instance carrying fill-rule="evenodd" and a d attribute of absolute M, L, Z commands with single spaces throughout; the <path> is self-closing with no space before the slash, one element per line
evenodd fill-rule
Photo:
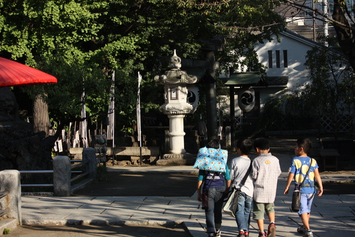
<path fill-rule="evenodd" d="M 277 177 L 281 174 L 278 159 L 268 154 L 259 154 L 253 160 L 252 178 L 254 180 L 254 200 L 260 203 L 274 202 Z"/>

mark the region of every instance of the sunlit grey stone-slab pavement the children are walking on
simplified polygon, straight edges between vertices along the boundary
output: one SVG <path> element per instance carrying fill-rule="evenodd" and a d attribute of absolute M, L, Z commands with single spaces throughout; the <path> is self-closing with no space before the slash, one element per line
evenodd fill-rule
<path fill-rule="evenodd" d="M 233 158 L 231 155 L 230 158 Z M 290 210 L 291 193 L 284 195 L 288 168 L 292 157 L 276 155 L 282 174 L 278 178 L 275 200 L 276 235 L 301 236 L 296 229 L 302 222 Z M 113 166 L 109 172 L 195 172 L 192 166 Z M 355 180 L 355 172 L 346 175 L 322 176 L 325 181 Z M 355 191 L 354 191 L 355 193 Z M 191 197 L 22 197 L 22 223 L 24 225 L 64 224 L 168 224 L 184 223 L 192 236 L 206 236 L 205 215 L 197 201 Z M 311 229 L 314 236 L 355 235 L 355 194 L 316 196 L 313 201 Z M 267 228 L 267 221 L 265 221 Z M 236 236 L 235 220 L 223 214 L 222 236 Z M 251 221 L 250 236 L 258 236 L 257 223 Z"/>

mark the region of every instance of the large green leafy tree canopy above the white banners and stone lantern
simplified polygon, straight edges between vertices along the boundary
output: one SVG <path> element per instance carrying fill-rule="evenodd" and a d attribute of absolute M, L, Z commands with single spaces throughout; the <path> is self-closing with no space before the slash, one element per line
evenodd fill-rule
<path fill-rule="evenodd" d="M 107 111 L 115 70 L 115 110 L 123 121 L 134 122 L 137 72 L 144 77 L 141 107 L 157 111 L 163 91 L 153 78 L 164 70 L 161 56 L 173 49 L 201 59 L 201 49 L 207 48 L 203 40 L 224 35 L 227 44 L 217 57 L 223 70 L 260 69 L 253 44 L 271 40 L 285 26 L 273 11 L 277 3 L 6 0 L 0 2 L 0 54 L 59 79 L 57 85 L 25 88 L 32 99 L 41 95 L 56 119 L 80 114 L 84 88 L 89 115 Z"/>

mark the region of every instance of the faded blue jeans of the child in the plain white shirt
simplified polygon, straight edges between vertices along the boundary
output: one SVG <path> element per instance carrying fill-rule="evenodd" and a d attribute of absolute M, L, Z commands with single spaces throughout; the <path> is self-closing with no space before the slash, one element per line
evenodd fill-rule
<path fill-rule="evenodd" d="M 253 197 L 239 191 L 238 210 L 235 213 L 235 221 L 238 225 L 238 231 L 246 230 L 249 232 L 250 216 L 253 205 Z"/>

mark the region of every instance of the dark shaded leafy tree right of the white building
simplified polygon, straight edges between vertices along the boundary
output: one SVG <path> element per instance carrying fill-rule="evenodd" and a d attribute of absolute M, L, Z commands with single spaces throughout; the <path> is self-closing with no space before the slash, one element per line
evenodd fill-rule
<path fill-rule="evenodd" d="M 329 116 L 335 138 L 342 125 L 339 115 L 353 114 L 354 72 L 334 38 L 319 37 L 321 44 L 307 52 L 310 83 L 286 95 L 287 110 L 316 117 L 318 128 L 323 116 Z"/>

